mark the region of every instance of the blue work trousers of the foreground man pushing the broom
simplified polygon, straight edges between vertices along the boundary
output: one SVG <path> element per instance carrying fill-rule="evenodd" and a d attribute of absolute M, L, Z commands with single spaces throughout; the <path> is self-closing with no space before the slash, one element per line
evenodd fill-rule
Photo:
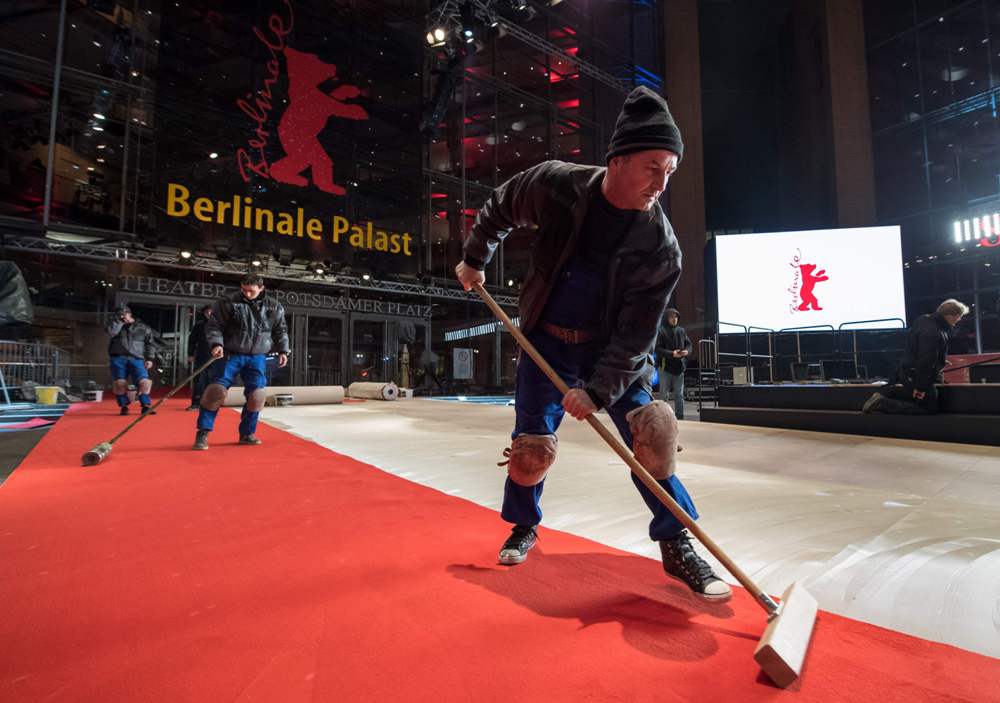
<path fill-rule="evenodd" d="M 540 331 L 531 332 L 528 338 L 570 388 L 580 386 L 581 380 L 587 378 L 600 357 L 602 348 L 601 344 L 565 344 Z M 618 402 L 607 408 L 608 415 L 611 416 L 618 433 L 629 449 L 632 448 L 632 433 L 629 431 L 625 414 L 652 401 L 649 391 L 637 381 Z M 555 434 L 565 414 L 562 394 L 535 365 L 531 357 L 523 353 L 517 363 L 514 408 L 516 420 L 512 437 L 521 434 Z M 669 539 L 684 529 L 673 513 L 634 475 L 632 483 L 653 513 L 653 519 L 649 523 L 650 539 Z M 688 515 L 693 519 L 698 518 L 694 501 L 677 476 L 671 476 L 658 483 Z M 544 486 L 544 481 L 535 486 L 521 486 L 508 477 L 504 484 L 501 517 L 515 525 L 537 525 L 542 520 L 540 503 Z"/>

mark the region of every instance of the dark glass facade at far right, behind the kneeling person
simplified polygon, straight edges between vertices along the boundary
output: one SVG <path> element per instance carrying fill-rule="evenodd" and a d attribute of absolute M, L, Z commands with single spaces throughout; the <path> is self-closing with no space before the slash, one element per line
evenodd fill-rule
<path fill-rule="evenodd" d="M 868 0 L 865 31 L 878 217 L 902 227 L 907 316 L 957 298 L 974 314 L 953 352 L 1000 351 L 1000 232 L 977 232 L 1000 212 L 1000 0 Z"/>

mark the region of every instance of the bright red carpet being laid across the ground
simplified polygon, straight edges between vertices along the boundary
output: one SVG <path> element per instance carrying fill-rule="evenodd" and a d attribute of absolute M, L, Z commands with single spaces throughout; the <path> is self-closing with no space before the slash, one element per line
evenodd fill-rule
<path fill-rule="evenodd" d="M 544 530 L 496 566 L 495 513 L 231 411 L 192 452 L 185 404 L 91 469 L 129 418 L 75 408 L 0 487 L 0 701 L 1000 701 L 1000 660 L 827 613 L 776 689 L 742 591 Z"/>

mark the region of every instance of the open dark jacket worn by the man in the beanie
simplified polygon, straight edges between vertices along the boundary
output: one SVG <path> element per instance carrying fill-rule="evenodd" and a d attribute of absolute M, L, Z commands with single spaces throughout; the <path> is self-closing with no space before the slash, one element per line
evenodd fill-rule
<path fill-rule="evenodd" d="M 485 268 L 514 227 L 537 227 L 519 301 L 521 329 L 538 323 L 559 272 L 573 254 L 604 167 L 546 161 L 493 191 L 465 243 L 465 261 Z M 635 381 L 651 388 L 652 351 L 667 299 L 681 275 L 681 251 L 659 204 L 639 212 L 608 264 L 605 339 L 586 390 L 613 405 Z"/>

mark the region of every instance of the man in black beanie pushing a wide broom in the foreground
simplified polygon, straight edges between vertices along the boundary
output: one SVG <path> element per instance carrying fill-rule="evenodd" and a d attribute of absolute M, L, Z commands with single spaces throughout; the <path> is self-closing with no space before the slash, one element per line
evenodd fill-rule
<path fill-rule="evenodd" d="M 571 390 L 563 396 L 531 358 L 517 365 L 515 412 L 501 516 L 513 525 L 502 564 L 527 558 L 542 519 L 545 475 L 565 413 L 577 420 L 605 408 L 636 458 L 692 517 L 694 502 L 674 474 L 677 419 L 652 398 L 652 352 L 681 252 L 659 205 L 684 143 L 667 102 L 639 87 L 625 100 L 607 166 L 546 161 L 498 187 L 479 211 L 455 267 L 469 290 L 515 227 L 538 241 L 521 287 L 521 329 Z M 730 588 L 694 551 L 683 525 L 632 477 L 653 513 L 650 538 L 663 568 L 699 596 L 726 600 Z"/>

